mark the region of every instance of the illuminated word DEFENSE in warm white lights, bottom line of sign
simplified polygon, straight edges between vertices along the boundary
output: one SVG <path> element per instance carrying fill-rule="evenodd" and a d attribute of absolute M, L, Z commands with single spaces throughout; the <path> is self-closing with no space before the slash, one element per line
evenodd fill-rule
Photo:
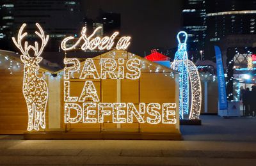
<path fill-rule="evenodd" d="M 76 112 L 75 117 L 70 116 L 71 110 Z M 138 109 L 134 103 L 88 102 L 83 103 L 83 108 L 78 103 L 65 103 L 65 123 L 106 123 L 106 116 L 112 116 L 113 123 L 177 123 L 176 103 L 148 103 L 147 107 L 140 103 Z"/>

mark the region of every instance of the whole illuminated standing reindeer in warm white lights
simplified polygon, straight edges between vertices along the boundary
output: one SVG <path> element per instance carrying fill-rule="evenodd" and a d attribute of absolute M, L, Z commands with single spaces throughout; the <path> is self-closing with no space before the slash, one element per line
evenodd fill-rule
<path fill-rule="evenodd" d="M 22 33 L 26 27 L 26 24 L 23 24 L 20 27 L 17 40 L 13 37 L 12 40 L 15 43 L 16 47 L 20 50 L 22 55 L 20 56 L 21 61 L 24 63 L 24 77 L 23 77 L 23 95 L 28 107 L 28 131 L 39 130 L 45 128 L 45 109 L 47 105 L 48 98 L 48 87 L 44 79 L 38 77 L 36 72 L 39 70 L 40 66 L 38 63 L 42 61 L 42 54 L 47 41 L 49 40 L 49 35 L 46 36 L 42 27 L 36 23 L 40 33 L 35 32 L 37 36 L 42 40 L 42 45 L 39 49 L 38 42 L 35 41 L 35 46 L 28 45 L 28 41 L 25 41 L 24 46 L 22 45 L 22 39 L 28 33 Z M 34 56 L 29 55 L 29 50 L 33 50 Z"/>

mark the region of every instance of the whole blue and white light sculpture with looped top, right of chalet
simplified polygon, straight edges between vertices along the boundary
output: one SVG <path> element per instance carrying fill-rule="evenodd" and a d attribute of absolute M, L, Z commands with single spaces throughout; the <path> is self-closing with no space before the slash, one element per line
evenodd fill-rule
<path fill-rule="evenodd" d="M 180 42 L 180 35 L 184 35 L 184 43 Z M 177 34 L 179 41 L 178 50 L 175 54 L 174 61 L 171 68 L 180 72 L 179 77 L 179 112 L 180 119 L 184 118 L 184 115 L 189 119 L 199 119 L 202 103 L 201 84 L 198 70 L 195 64 L 188 59 L 187 44 L 188 34 L 181 31 Z M 190 80 L 190 82 L 189 82 Z M 189 100 L 189 83 L 191 91 L 191 100 Z M 189 112 L 189 101 L 190 112 Z"/>

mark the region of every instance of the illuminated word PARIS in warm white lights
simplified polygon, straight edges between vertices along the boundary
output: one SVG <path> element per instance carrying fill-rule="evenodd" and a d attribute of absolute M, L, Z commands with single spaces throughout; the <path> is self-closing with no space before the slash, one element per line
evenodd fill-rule
<path fill-rule="evenodd" d="M 97 59 L 94 59 L 97 61 Z M 118 63 L 116 63 L 116 61 Z M 64 68 L 64 79 L 70 79 L 70 74 L 74 72 L 79 72 L 80 61 L 76 58 L 65 58 L 64 64 L 70 64 L 72 66 Z M 129 59 L 126 61 L 127 72 L 124 73 L 124 59 L 111 59 L 111 58 L 101 58 L 100 59 L 100 73 L 97 72 L 97 68 L 93 59 L 86 59 L 84 62 L 83 70 L 81 71 L 79 79 L 86 79 L 89 76 L 93 76 L 93 79 L 131 79 L 135 80 L 140 78 L 140 59 Z M 117 67 L 118 66 L 118 67 Z M 116 70 L 118 72 L 116 73 Z M 158 72 L 158 71 L 157 71 Z M 100 77 L 99 77 L 100 75 Z"/>

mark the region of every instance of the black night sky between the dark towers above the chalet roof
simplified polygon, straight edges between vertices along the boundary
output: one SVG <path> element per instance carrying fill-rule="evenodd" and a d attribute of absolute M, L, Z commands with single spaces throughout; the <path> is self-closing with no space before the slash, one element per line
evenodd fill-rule
<path fill-rule="evenodd" d="M 99 8 L 121 14 L 120 35 L 131 35 L 130 52 L 144 55 L 151 49 L 177 47 L 176 34 L 181 25 L 181 0 L 86 0 L 81 8 L 95 19 Z"/>

